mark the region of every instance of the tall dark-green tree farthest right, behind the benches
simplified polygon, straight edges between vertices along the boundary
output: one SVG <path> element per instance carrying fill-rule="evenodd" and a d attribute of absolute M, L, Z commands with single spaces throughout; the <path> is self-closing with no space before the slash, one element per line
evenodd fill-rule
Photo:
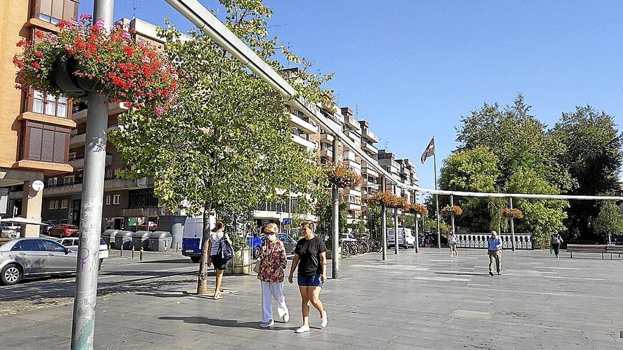
<path fill-rule="evenodd" d="M 564 145 L 559 163 L 568 166 L 576 180 L 570 194 L 596 195 L 618 190 L 622 165 L 622 136 L 612 116 L 590 105 L 564 112 L 551 135 Z M 594 201 L 572 201 L 566 226 L 574 237 L 594 237 L 590 219 L 598 216 Z"/>

